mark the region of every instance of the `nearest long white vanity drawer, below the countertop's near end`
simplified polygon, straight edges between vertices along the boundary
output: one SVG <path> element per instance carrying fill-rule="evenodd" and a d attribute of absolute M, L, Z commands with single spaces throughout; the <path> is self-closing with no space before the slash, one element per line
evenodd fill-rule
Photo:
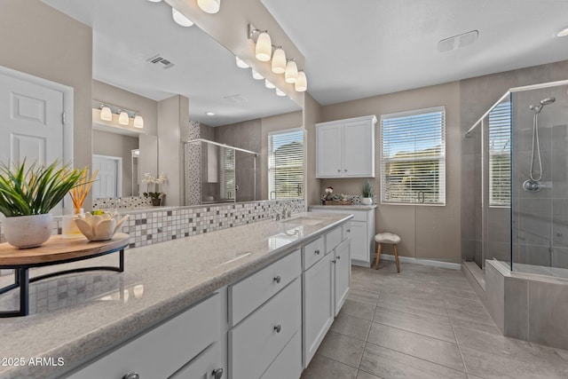
<path fill-rule="evenodd" d="M 69 376 L 72 379 L 167 378 L 193 359 L 221 333 L 218 294 L 153 328 Z"/>

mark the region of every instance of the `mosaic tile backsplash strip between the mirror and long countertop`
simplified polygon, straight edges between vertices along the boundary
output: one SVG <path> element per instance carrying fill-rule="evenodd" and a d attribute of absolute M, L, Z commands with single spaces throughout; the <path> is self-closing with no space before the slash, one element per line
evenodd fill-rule
<path fill-rule="evenodd" d="M 294 213 L 304 211 L 304 199 L 125 209 L 121 213 L 130 214 L 130 218 L 122 225 L 122 233 L 130 234 L 129 248 L 146 246 L 274 218 L 286 202 L 297 205 Z M 61 233 L 61 217 L 53 217 L 52 233 Z M 4 229 L 0 224 L 0 242 L 4 241 Z M 10 272 L 2 270 L 0 274 Z"/>

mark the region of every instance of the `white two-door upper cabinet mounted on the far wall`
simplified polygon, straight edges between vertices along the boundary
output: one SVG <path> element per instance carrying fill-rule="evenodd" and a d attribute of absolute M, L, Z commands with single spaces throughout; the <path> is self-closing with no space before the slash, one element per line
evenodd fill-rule
<path fill-rule="evenodd" d="M 375 115 L 316 124 L 316 178 L 375 178 Z"/>

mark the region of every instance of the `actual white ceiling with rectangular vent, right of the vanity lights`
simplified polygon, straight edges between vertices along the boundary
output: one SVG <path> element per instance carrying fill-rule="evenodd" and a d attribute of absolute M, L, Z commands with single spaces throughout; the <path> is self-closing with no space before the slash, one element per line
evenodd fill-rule
<path fill-rule="evenodd" d="M 261 0 L 321 105 L 568 59 L 566 0 Z M 477 30 L 477 42 L 438 41 Z M 566 73 L 568 78 L 568 73 Z"/>

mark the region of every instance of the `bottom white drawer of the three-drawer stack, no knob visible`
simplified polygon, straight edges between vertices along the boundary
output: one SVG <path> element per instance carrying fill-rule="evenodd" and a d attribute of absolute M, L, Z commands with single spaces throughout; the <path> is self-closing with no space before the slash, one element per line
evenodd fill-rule
<path fill-rule="evenodd" d="M 302 333 L 298 330 L 260 379 L 297 379 L 302 374 Z"/>

